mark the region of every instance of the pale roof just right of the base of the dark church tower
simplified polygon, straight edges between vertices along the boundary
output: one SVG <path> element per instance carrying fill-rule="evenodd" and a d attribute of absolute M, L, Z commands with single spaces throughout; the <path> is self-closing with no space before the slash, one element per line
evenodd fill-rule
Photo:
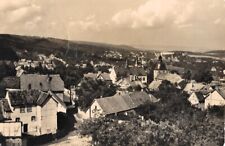
<path fill-rule="evenodd" d="M 178 74 L 172 74 L 172 73 L 161 73 L 159 74 L 156 79 L 158 80 L 167 80 L 170 81 L 171 83 L 175 84 L 175 83 L 179 83 L 182 78 L 181 76 L 179 76 Z"/>

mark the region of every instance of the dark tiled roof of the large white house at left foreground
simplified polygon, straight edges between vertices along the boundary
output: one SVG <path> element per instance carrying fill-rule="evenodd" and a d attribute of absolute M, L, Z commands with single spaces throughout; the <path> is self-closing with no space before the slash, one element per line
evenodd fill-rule
<path fill-rule="evenodd" d="M 40 90 L 19 90 L 19 91 L 8 91 L 9 100 L 13 107 L 23 106 L 42 106 L 45 101 L 52 97 L 58 103 L 65 105 L 63 101 L 52 92 L 42 92 Z"/>

